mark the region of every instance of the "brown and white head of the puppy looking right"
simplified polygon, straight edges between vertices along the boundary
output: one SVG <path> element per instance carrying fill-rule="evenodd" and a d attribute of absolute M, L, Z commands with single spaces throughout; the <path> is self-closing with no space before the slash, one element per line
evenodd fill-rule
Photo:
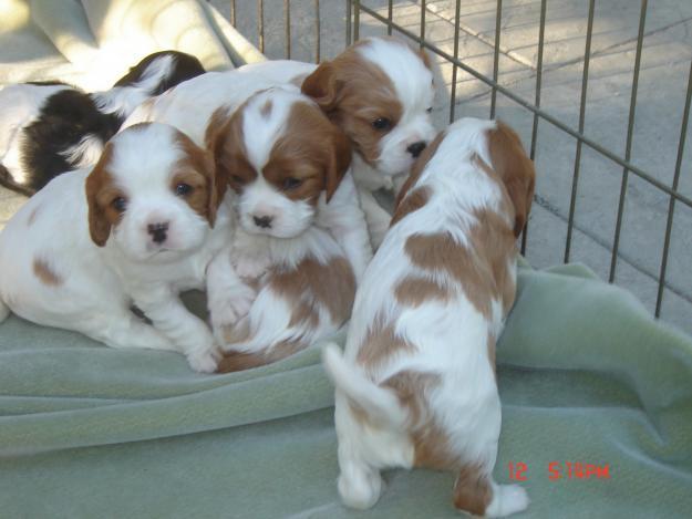
<path fill-rule="evenodd" d="M 302 92 L 384 176 L 405 173 L 435 136 L 433 73 L 426 56 L 393 38 L 361 40 L 322 63 Z"/>

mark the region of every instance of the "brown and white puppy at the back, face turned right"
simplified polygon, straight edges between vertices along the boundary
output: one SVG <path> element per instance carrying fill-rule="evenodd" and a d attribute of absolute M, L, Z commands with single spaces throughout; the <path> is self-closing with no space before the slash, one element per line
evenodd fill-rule
<path fill-rule="evenodd" d="M 397 180 L 403 181 L 435 135 L 430 117 L 433 72 L 426 55 L 394 38 L 371 38 L 319 66 L 270 61 L 239 70 L 301 84 L 302 92 L 345 132 L 353 146 L 353 174 L 376 249 L 391 215 L 380 207 L 372 191 L 396 191 L 401 187 Z"/>

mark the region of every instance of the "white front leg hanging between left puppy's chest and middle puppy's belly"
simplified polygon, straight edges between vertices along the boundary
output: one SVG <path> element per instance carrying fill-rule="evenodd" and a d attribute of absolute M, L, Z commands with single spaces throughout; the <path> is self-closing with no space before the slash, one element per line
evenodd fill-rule
<path fill-rule="evenodd" d="M 224 342 L 224 332 L 247 315 L 257 292 L 238 276 L 230 261 L 231 247 L 223 249 L 207 268 L 207 305 L 214 336 Z"/>

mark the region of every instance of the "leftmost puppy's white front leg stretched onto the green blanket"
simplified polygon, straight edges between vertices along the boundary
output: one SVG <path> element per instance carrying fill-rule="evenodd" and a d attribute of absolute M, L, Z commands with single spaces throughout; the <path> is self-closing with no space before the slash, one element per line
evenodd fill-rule
<path fill-rule="evenodd" d="M 193 315 L 178 294 L 167 286 L 144 286 L 132 290 L 134 303 L 152 321 L 156 330 L 185 354 L 197 372 L 216 370 L 216 346 L 205 322 Z"/>

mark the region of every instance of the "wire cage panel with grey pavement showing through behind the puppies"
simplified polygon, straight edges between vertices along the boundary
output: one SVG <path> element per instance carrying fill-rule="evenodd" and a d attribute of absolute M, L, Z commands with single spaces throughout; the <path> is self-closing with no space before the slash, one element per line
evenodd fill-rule
<path fill-rule="evenodd" d="M 319 62 L 395 34 L 440 68 L 440 128 L 499 117 L 537 187 L 521 251 L 579 261 L 692 331 L 692 4 L 640 0 L 214 2 L 269 59 Z M 675 2 L 673 2 L 675 3 Z"/>

